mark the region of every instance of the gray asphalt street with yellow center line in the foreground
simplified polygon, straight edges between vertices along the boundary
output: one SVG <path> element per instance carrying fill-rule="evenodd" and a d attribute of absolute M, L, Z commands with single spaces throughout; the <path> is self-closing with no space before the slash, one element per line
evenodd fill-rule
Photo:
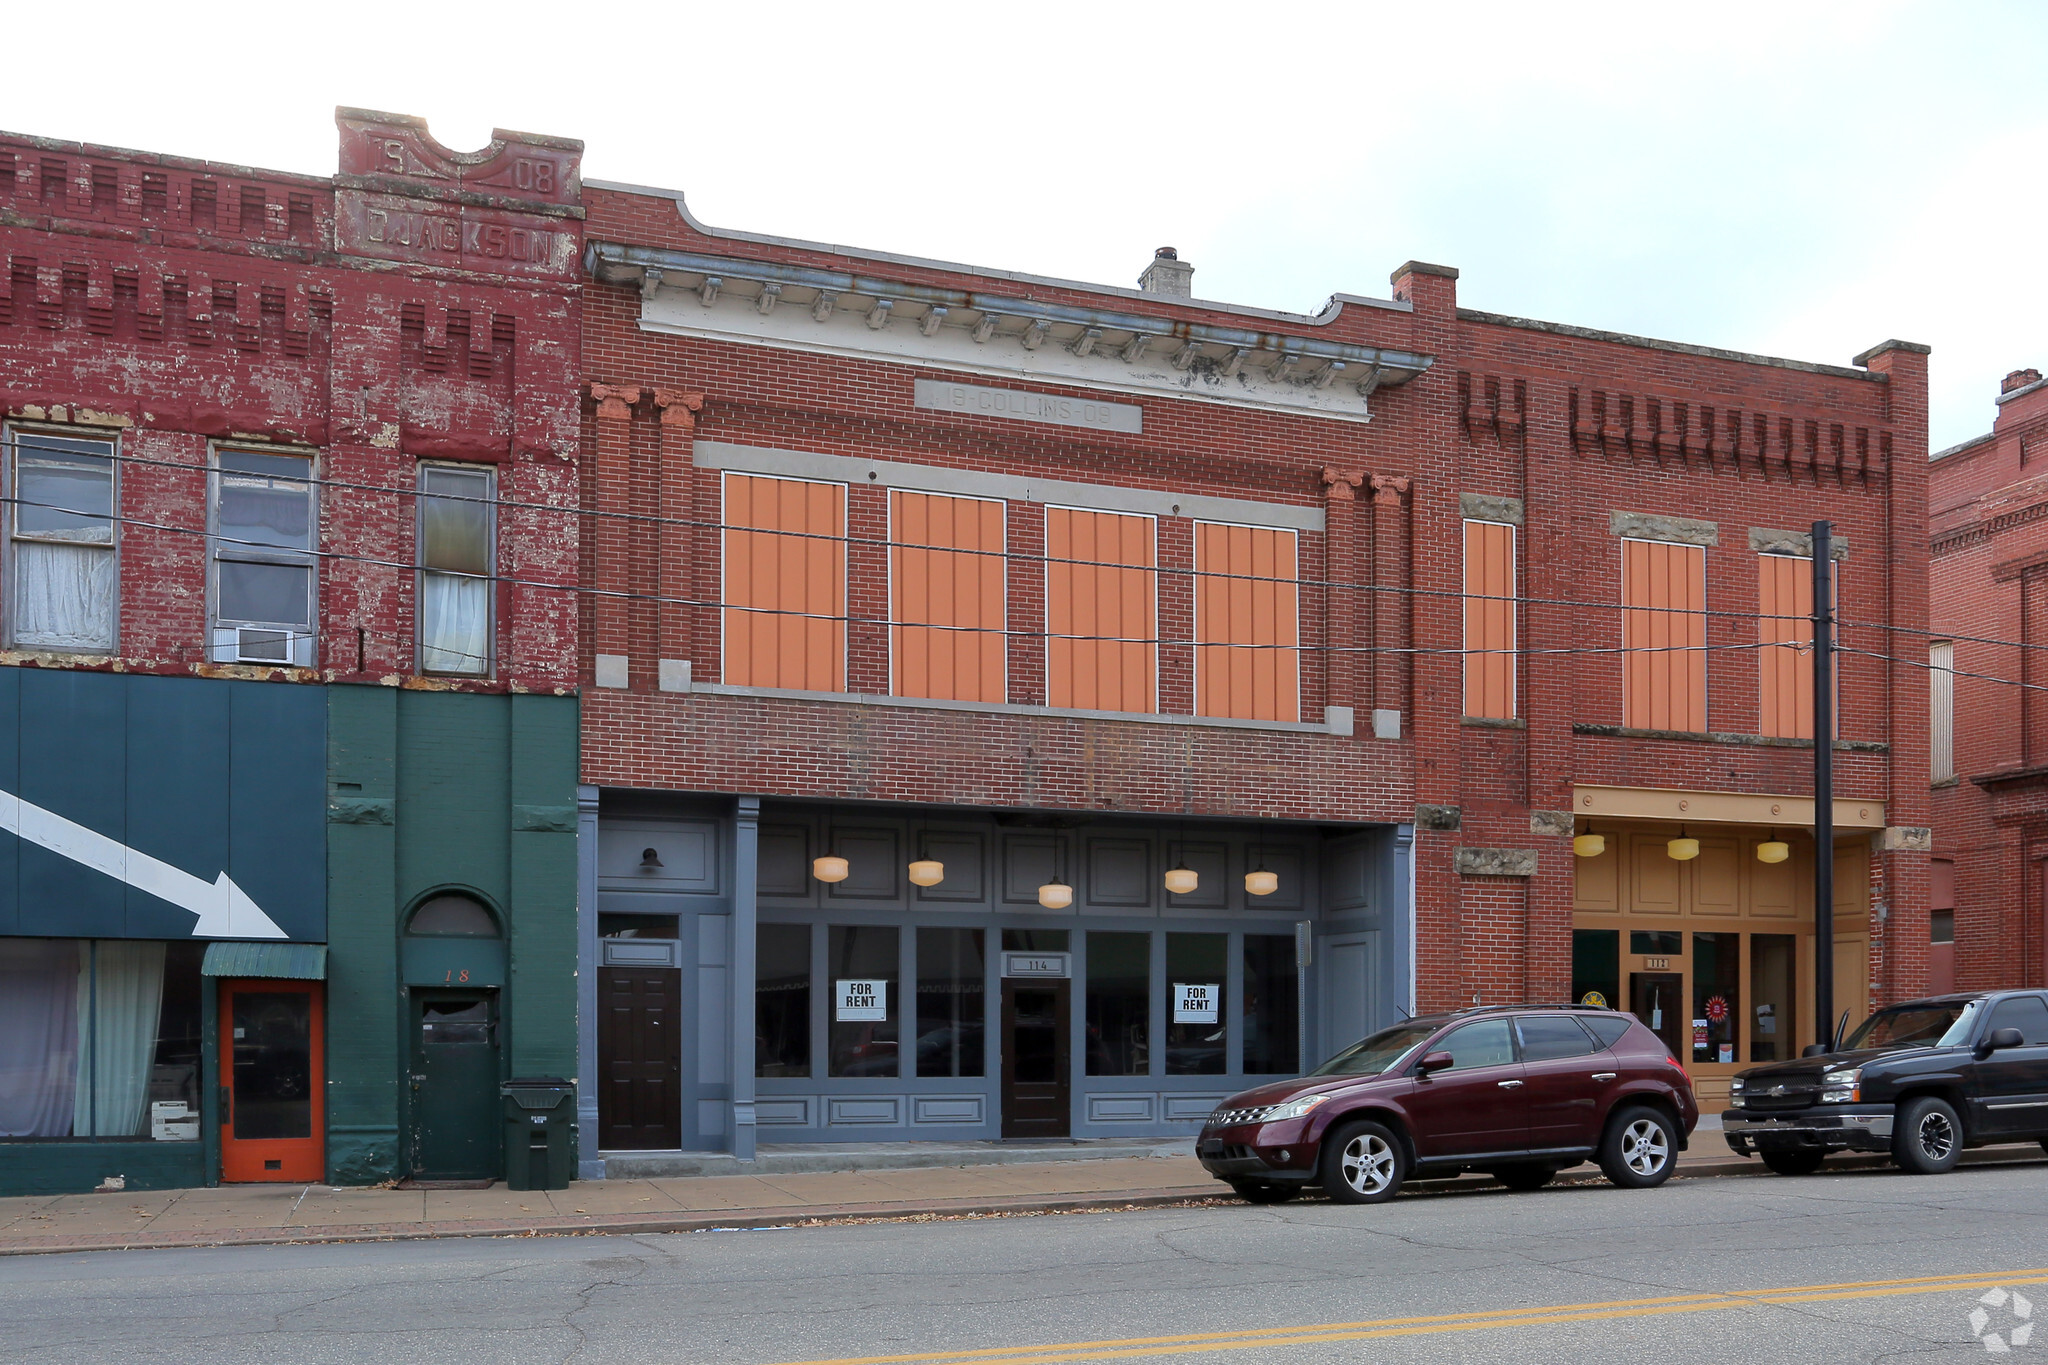
<path fill-rule="evenodd" d="M 1999 1347 L 2048 1363 L 2040 1318 L 2040 1162 L 1378 1207 L 0 1259 L 0 1359 L 35 1363 L 1833 1365 Z"/>

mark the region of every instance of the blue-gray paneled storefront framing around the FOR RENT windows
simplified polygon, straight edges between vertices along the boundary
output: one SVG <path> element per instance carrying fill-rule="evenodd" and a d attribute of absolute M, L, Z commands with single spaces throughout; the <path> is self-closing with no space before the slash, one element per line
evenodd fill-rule
<path fill-rule="evenodd" d="M 596 1140 L 604 1081 L 598 974 L 606 964 L 666 964 L 680 974 L 676 1019 L 682 1109 L 678 1150 L 731 1152 L 758 1142 L 989 1140 L 1001 1136 L 997 1001 L 1004 929 L 1069 931 L 1071 1136 L 1190 1136 L 1214 1103 L 1266 1074 L 1243 1070 L 1243 935 L 1292 935 L 1298 1040 L 1313 1066 L 1413 1005 L 1413 911 L 1407 825 L 1157 819 L 1087 812 L 997 812 L 961 806 L 680 796 L 582 788 L 580 802 L 580 1085 L 582 1175 L 604 1175 Z M 649 857 L 649 851 L 653 857 Z M 850 876 L 817 882 L 831 851 Z M 915 857 L 946 864 L 938 886 L 911 886 Z M 1176 862 L 1200 874 L 1169 896 Z M 1249 896 L 1245 872 L 1280 876 Z M 1038 905 L 1044 880 L 1073 905 Z M 674 939 L 608 939 L 598 917 L 678 917 Z M 662 921 L 666 923 L 666 921 Z M 811 1074 L 754 1074 L 758 925 L 813 925 Z M 827 1076 L 827 925 L 897 929 L 899 1066 L 915 1070 L 909 986 L 918 927 L 983 929 L 981 1076 Z M 1145 931 L 1151 945 L 1149 1074 L 1087 1072 L 1090 931 Z M 1165 1074 L 1167 933 L 1225 933 L 1223 1074 Z M 907 1015 L 907 1017 L 905 1017 Z"/>

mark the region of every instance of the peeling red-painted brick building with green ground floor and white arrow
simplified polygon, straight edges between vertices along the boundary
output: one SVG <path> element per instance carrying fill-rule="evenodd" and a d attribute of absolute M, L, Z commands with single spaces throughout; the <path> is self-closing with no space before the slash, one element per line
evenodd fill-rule
<path fill-rule="evenodd" d="M 338 125 L 0 135 L 6 1191 L 489 1175 L 571 1066 L 582 143 Z"/>

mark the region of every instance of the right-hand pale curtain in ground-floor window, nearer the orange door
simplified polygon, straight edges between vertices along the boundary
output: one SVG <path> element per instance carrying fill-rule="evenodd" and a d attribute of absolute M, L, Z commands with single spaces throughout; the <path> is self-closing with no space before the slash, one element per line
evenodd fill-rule
<path fill-rule="evenodd" d="M 72 1134 L 133 1138 L 150 1107 L 156 1021 L 164 1007 L 164 945 L 100 939 L 98 980 L 86 988 L 92 945 L 78 980 L 78 1089 Z"/>

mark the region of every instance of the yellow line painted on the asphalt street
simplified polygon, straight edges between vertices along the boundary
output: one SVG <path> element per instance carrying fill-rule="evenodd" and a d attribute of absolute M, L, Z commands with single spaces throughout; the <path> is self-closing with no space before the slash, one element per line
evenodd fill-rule
<path fill-rule="evenodd" d="M 1550 1308 L 1491 1308 L 1470 1314 L 1438 1314 L 1425 1318 L 1378 1318 L 1368 1322 L 1317 1322 L 1307 1326 L 1245 1328 L 1239 1332 L 1186 1332 L 1178 1336 L 1122 1336 L 1110 1340 L 1075 1340 L 1034 1347 L 981 1347 L 973 1351 L 924 1351 L 918 1355 L 860 1355 L 829 1361 L 793 1361 L 788 1365 L 1057 1365 L 1061 1361 L 1118 1361 L 1147 1355 L 1206 1355 L 1210 1351 L 1247 1351 L 1251 1347 L 1303 1347 L 1333 1340 L 1368 1340 L 1376 1336 L 1434 1336 L 1440 1332 L 1477 1332 L 1501 1326 L 1548 1326 L 1554 1322 L 1602 1322 L 1614 1318 L 1661 1318 L 1720 1308 L 1757 1308 L 1769 1304 L 1825 1304 L 1837 1300 L 1878 1300 L 1905 1293 L 1946 1293 L 1991 1289 L 1997 1285 L 2042 1285 L 2048 1269 L 1982 1271 L 1972 1275 L 1919 1275 L 1913 1279 L 1851 1279 L 1829 1285 L 1788 1285 L 1782 1289 L 1735 1289 L 1718 1293 L 1677 1293 L 1655 1300 L 1610 1300 L 1602 1304 L 1556 1304 Z"/>

